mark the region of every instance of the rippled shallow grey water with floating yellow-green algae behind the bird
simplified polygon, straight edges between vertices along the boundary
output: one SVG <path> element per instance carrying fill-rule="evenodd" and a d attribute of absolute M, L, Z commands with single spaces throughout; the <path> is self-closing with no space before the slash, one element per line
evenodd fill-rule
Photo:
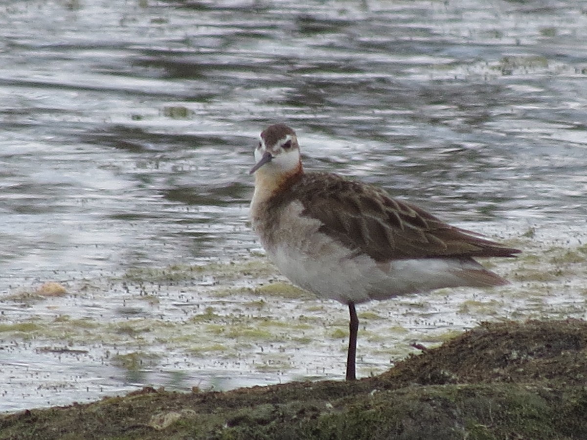
<path fill-rule="evenodd" d="M 250 290 L 275 277 L 247 226 L 275 121 L 306 168 L 527 255 L 503 290 L 361 306 L 360 374 L 476 321 L 585 317 L 587 2 L 0 8 L 0 410 L 342 377 L 345 307 Z M 206 275 L 128 278 L 178 263 Z"/>

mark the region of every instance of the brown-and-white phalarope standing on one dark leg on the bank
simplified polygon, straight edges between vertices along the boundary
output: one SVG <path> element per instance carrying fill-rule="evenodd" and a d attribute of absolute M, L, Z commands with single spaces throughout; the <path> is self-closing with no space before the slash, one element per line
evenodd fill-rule
<path fill-rule="evenodd" d="M 288 126 L 261 133 L 255 160 L 251 223 L 269 258 L 299 287 L 349 306 L 346 380 L 355 380 L 355 304 L 508 283 L 473 257 L 509 257 L 518 249 L 450 226 L 372 185 L 304 172 Z"/>

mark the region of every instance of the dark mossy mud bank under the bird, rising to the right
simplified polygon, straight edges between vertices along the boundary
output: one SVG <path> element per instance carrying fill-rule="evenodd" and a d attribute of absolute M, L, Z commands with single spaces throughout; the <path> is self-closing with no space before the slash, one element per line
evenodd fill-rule
<path fill-rule="evenodd" d="M 0 417 L 0 439 L 579 439 L 587 323 L 483 323 L 355 383 L 144 388 Z"/>

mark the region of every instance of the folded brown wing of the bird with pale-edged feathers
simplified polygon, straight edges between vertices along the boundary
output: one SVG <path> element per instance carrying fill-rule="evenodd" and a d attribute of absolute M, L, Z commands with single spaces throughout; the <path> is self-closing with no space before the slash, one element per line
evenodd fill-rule
<path fill-rule="evenodd" d="M 518 249 L 450 226 L 372 185 L 335 174 L 308 173 L 292 187 L 320 230 L 377 261 L 407 258 L 513 256 Z"/>

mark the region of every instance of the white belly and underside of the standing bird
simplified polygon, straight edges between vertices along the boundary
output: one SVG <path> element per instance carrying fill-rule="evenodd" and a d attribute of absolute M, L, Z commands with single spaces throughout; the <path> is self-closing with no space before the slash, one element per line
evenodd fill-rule
<path fill-rule="evenodd" d="M 292 203 L 272 242 L 264 240 L 269 258 L 294 284 L 318 297 L 342 303 L 383 300 L 441 287 L 498 284 L 472 259 L 423 258 L 376 262 L 318 232 L 321 222 L 300 216 Z M 488 275 L 484 278 L 484 275 Z M 493 280 L 491 280 L 493 279 Z M 499 277 L 497 277 L 500 280 Z"/>

